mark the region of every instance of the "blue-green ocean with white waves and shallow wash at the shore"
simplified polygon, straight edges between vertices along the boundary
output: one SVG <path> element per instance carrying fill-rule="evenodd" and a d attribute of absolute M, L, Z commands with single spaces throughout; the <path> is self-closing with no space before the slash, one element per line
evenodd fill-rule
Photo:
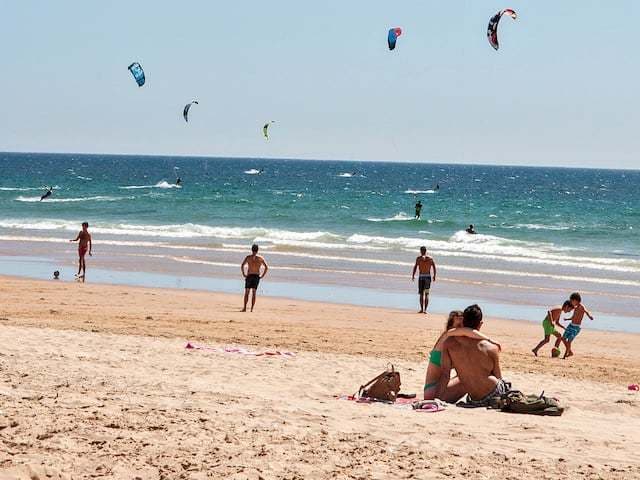
<path fill-rule="evenodd" d="M 414 308 L 411 268 L 425 245 L 439 267 L 434 301 L 542 319 L 579 290 L 609 323 L 640 318 L 640 171 L 26 153 L 0 154 L 0 165 L 0 273 L 25 270 L 12 257 L 37 259 L 69 279 L 67 240 L 88 221 L 89 272 L 125 279 L 241 288 L 239 263 L 256 242 L 288 296 L 325 286 L 325 300 L 349 301 L 352 288 L 354 303 L 396 293 L 406 296 L 394 306 Z M 45 186 L 54 193 L 41 202 Z"/>

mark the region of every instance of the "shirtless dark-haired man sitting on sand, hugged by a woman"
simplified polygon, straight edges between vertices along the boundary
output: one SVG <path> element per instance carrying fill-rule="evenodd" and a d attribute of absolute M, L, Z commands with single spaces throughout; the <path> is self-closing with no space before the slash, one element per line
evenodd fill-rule
<path fill-rule="evenodd" d="M 467 307 L 463 313 L 463 325 L 480 330 L 482 310 L 478 305 Z M 458 374 L 451 377 L 451 369 Z M 457 402 L 465 394 L 468 403 L 486 406 L 492 397 L 508 390 L 500 371 L 500 349 L 487 340 L 469 337 L 449 337 L 442 347 L 442 374 L 437 398 Z"/>

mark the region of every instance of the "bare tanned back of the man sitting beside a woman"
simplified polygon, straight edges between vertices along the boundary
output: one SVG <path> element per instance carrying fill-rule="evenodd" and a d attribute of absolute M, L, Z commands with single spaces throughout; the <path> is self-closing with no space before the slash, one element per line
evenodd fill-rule
<path fill-rule="evenodd" d="M 450 382 L 452 368 L 458 378 Z M 502 378 L 499 349 L 486 340 L 450 337 L 442 347 L 442 375 L 439 390 L 447 401 L 456 401 L 465 393 L 473 400 L 481 400 L 495 390 Z"/>

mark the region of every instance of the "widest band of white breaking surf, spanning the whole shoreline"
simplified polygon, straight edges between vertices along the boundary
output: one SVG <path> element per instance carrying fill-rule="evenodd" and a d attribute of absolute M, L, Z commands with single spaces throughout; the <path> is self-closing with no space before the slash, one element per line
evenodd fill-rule
<path fill-rule="evenodd" d="M 2 219 L 0 228 L 11 230 L 78 230 L 82 219 L 76 221 L 61 219 L 20 220 Z M 141 239 L 157 239 L 152 244 L 161 245 L 166 239 L 169 244 L 176 245 L 171 239 L 220 239 L 238 241 L 257 241 L 265 247 L 271 246 L 282 254 L 310 252 L 311 250 L 327 251 L 381 251 L 403 257 L 414 253 L 424 245 L 434 255 L 441 258 L 461 258 L 469 261 L 492 262 L 496 264 L 515 264 L 514 270 L 524 271 L 527 265 L 540 265 L 550 268 L 565 268 L 571 271 L 584 270 L 594 272 L 585 276 L 596 276 L 598 272 L 640 273 L 640 261 L 635 258 L 619 255 L 608 257 L 581 256 L 580 251 L 558 247 L 551 243 L 524 242 L 493 235 L 469 235 L 464 231 L 456 232 L 449 239 L 434 240 L 419 237 L 385 237 L 365 234 L 339 235 L 327 231 L 297 232 L 261 227 L 225 227 L 209 226 L 193 223 L 172 225 L 138 225 L 128 223 L 95 223 L 92 231 L 116 237 L 140 237 Z M 107 240 L 107 239 L 105 239 Z M 115 239 L 114 239 L 115 240 Z M 157 243 L 156 243 L 157 242 Z M 208 240 L 207 243 L 210 243 Z M 222 242 L 221 242 L 222 243 Z M 166 247 L 171 248 L 171 247 Z M 184 248 L 201 249 L 191 246 Z M 406 253 L 405 253 L 406 252 Z M 307 255 L 307 254 L 305 254 Z M 316 255 L 316 253 L 313 253 Z M 391 260 L 391 259 L 389 259 Z M 386 261 L 386 260 L 385 260 Z M 383 262 L 384 263 L 384 262 Z M 518 266 L 520 265 L 520 266 Z M 546 273 L 545 273 L 546 275 Z"/>

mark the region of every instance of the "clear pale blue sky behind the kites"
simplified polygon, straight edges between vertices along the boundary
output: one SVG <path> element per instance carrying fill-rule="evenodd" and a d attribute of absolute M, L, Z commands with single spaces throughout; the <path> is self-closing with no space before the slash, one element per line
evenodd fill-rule
<path fill-rule="evenodd" d="M 637 0 L 9 0 L 0 150 L 638 168 L 639 21 Z"/>

